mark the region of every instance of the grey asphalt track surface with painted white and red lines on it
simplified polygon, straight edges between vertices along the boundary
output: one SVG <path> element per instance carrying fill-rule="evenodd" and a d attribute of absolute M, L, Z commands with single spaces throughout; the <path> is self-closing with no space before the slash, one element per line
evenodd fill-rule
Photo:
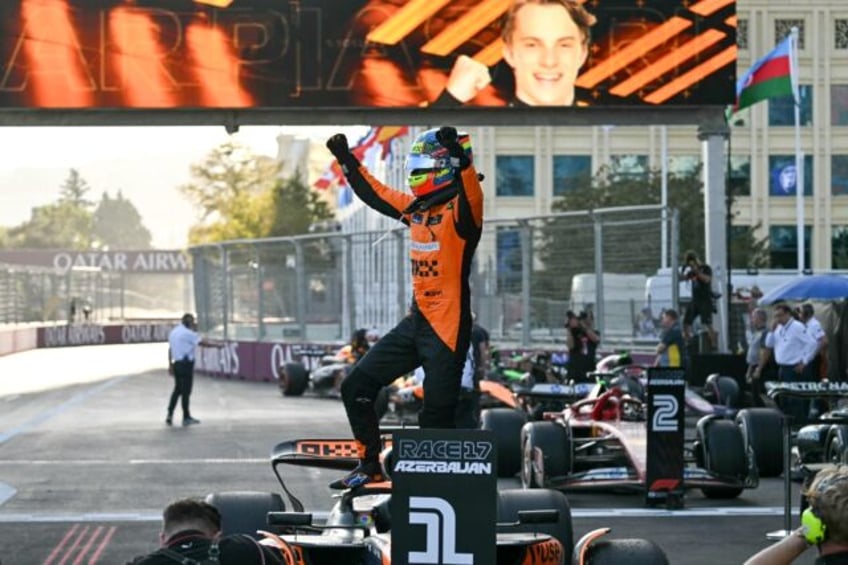
<path fill-rule="evenodd" d="M 120 564 L 157 547 L 162 509 L 184 496 L 273 491 L 278 442 L 349 437 L 341 403 L 284 398 L 273 383 L 195 379 L 202 423 L 168 428 L 167 345 L 38 350 L 0 357 L 0 563 Z M 179 409 L 178 409 L 179 413 Z M 179 417 L 177 418 L 177 423 Z M 287 486 L 329 510 L 338 473 L 293 468 Z M 519 487 L 516 479 L 499 481 Z M 687 494 L 685 509 L 647 509 L 634 494 L 569 494 L 575 540 L 610 526 L 657 542 L 671 563 L 742 563 L 784 525 L 782 479 L 738 499 Z M 793 514 L 798 488 L 792 484 Z M 793 515 L 793 527 L 797 518 Z M 812 563 L 814 550 L 796 563 Z"/>

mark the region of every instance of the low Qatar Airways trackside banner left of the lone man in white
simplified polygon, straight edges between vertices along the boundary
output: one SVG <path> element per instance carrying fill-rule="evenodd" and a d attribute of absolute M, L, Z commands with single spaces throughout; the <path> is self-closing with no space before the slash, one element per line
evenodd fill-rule
<path fill-rule="evenodd" d="M 136 324 L 69 324 L 43 326 L 37 330 L 37 347 L 69 347 L 75 345 L 117 345 L 168 341 L 177 322 Z"/>

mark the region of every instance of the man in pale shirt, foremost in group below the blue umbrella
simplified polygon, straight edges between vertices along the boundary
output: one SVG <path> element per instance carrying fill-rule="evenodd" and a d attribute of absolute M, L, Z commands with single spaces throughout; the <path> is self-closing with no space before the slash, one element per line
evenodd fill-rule
<path fill-rule="evenodd" d="M 783 382 L 809 380 L 809 366 L 816 356 L 818 344 L 807 327 L 792 315 L 788 304 L 778 304 L 774 310 L 774 327 L 766 336 L 766 347 L 772 350 L 777 363 L 777 376 Z M 801 398 L 784 398 L 782 409 L 794 424 L 806 421 L 807 402 Z"/>

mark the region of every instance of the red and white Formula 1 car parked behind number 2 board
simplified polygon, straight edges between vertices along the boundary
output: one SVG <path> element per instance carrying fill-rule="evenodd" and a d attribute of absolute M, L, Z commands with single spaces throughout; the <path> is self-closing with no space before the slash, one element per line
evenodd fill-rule
<path fill-rule="evenodd" d="M 549 420 L 528 422 L 521 430 L 522 484 L 562 490 L 647 489 L 647 412 L 641 399 L 613 387 Z M 763 417 L 748 414 L 746 421 L 759 424 Z M 756 487 L 754 439 L 732 420 L 702 417 L 694 442 L 684 447 L 683 487 L 700 488 L 708 498 L 735 498 Z"/>

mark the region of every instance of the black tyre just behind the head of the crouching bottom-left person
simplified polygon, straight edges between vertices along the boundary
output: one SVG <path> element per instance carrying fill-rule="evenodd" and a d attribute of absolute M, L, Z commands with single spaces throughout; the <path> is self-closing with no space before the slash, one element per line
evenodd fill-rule
<path fill-rule="evenodd" d="M 206 495 L 206 502 L 221 514 L 221 533 L 246 534 L 256 539 L 262 536 L 257 530 L 282 533 L 268 525 L 268 512 L 285 512 L 283 497 L 275 492 L 231 491 Z"/>

